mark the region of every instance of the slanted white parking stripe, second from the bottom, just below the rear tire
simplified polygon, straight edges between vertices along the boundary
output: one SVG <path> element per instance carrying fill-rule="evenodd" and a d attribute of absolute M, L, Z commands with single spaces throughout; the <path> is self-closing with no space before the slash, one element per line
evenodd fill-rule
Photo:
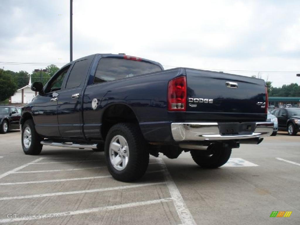
<path fill-rule="evenodd" d="M 66 195 L 66 194 L 93 193 L 93 192 L 101 192 L 101 191 L 108 191 L 108 190 L 121 190 L 121 189 L 133 188 L 133 187 L 161 185 L 161 184 L 166 184 L 166 183 L 167 182 L 156 182 L 156 183 L 134 184 L 134 185 L 127 185 L 127 186 L 119 186 L 119 187 L 106 187 L 106 188 L 98 188 L 98 189 L 90 189 L 90 190 L 77 190 L 77 191 L 68 191 L 68 192 L 55 192 L 55 193 L 46 193 L 46 194 L 34 194 L 34 195 L 2 197 L 2 198 L 0 198 L 0 200 L 40 198 L 40 197 Z"/>

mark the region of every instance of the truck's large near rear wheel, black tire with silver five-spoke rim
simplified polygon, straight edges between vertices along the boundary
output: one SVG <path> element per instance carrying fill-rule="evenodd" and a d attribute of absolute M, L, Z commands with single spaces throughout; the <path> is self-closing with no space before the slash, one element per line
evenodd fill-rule
<path fill-rule="evenodd" d="M 124 168 L 116 169 L 117 165 L 113 164 L 113 157 L 127 157 L 124 155 L 119 155 L 121 152 L 123 154 L 121 142 L 119 142 L 119 152 L 113 152 L 110 154 L 110 151 L 113 151 L 110 146 L 113 143 L 113 140 L 124 138 L 126 142 L 126 151 L 125 154 L 128 154 L 127 164 L 123 162 L 119 166 Z M 117 143 L 117 141 L 116 141 Z M 130 123 L 119 123 L 114 125 L 108 131 L 106 141 L 105 141 L 105 160 L 107 163 L 108 170 L 110 174 L 118 181 L 131 182 L 137 179 L 140 179 L 146 172 L 149 164 L 149 149 L 148 144 L 145 142 L 141 131 L 137 125 Z"/>

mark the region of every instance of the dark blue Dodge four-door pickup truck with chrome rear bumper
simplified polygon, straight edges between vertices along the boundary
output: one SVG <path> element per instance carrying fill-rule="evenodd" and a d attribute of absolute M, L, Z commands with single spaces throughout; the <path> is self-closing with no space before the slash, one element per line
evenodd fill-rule
<path fill-rule="evenodd" d="M 72 61 L 22 108 L 25 154 L 43 145 L 104 151 L 120 181 L 145 173 L 149 155 L 191 153 L 201 167 L 225 164 L 240 143 L 273 132 L 262 79 L 161 64 L 128 55 L 95 54 Z"/>

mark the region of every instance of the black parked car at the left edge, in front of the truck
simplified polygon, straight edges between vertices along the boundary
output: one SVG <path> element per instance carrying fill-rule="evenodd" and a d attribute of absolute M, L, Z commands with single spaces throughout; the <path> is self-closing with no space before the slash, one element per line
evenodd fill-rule
<path fill-rule="evenodd" d="M 0 106 L 0 133 L 6 134 L 9 130 L 19 129 L 20 118 L 20 107 Z"/>

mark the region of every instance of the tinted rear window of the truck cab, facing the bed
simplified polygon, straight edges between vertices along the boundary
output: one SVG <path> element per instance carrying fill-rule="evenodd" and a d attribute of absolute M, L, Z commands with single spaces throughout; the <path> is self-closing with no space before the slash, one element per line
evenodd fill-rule
<path fill-rule="evenodd" d="M 117 58 L 102 58 L 95 72 L 94 83 L 161 71 L 155 64 Z"/>

